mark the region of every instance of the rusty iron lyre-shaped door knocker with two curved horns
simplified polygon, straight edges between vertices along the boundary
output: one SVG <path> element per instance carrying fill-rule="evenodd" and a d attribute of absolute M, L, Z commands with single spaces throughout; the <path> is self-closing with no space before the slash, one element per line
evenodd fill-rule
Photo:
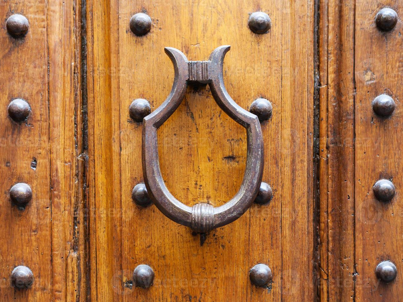
<path fill-rule="evenodd" d="M 262 182 L 263 137 L 259 119 L 237 105 L 224 87 L 222 66 L 229 49 L 230 46 L 216 48 L 208 61 L 188 61 L 179 50 L 166 47 L 165 52 L 175 69 L 172 90 L 164 103 L 143 119 L 142 161 L 148 194 L 166 217 L 199 233 L 209 232 L 241 217 L 253 203 Z M 218 106 L 247 130 L 247 159 L 241 188 L 220 207 L 208 203 L 198 203 L 193 207 L 184 205 L 169 192 L 161 176 L 157 129 L 182 102 L 188 82 L 208 83 Z"/>

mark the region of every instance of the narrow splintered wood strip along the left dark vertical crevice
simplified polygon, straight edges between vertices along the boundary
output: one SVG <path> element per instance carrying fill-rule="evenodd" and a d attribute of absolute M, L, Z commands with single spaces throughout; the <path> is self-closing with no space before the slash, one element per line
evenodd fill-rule
<path fill-rule="evenodd" d="M 87 6 L 76 0 L 73 6 L 75 31 L 75 153 L 76 181 L 73 215 L 73 251 L 77 253 L 76 301 L 90 297 L 89 203 L 87 197 L 88 117 L 87 117 Z M 80 246 L 82 245 L 82 246 Z M 84 292 L 82 292 L 84 291 Z"/>

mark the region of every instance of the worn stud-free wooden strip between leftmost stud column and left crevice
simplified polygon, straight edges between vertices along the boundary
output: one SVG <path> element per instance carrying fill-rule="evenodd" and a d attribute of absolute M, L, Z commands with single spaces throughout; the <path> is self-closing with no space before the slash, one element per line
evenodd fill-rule
<path fill-rule="evenodd" d="M 84 225 L 87 213 L 81 199 L 81 2 L 48 2 L 46 15 L 52 299 L 82 301 L 87 298 Z"/>

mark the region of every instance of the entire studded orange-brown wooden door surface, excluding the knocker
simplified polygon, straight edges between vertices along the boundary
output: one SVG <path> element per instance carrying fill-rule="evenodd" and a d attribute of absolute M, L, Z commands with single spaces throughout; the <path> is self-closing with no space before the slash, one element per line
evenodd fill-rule
<path fill-rule="evenodd" d="M 381 30 L 384 7 L 403 14 L 397 0 L 2 2 L 1 300 L 398 301 L 402 23 Z M 259 11 L 266 33 L 249 27 Z M 145 35 L 130 26 L 139 12 L 151 18 Z M 272 105 L 260 127 L 273 196 L 197 234 L 133 201 L 143 124 L 129 106 L 146 99 L 154 112 L 169 95 L 164 47 L 206 61 L 222 45 L 229 95 L 245 110 L 258 98 Z M 391 116 L 374 113 L 381 94 Z M 209 85 L 189 83 L 157 133 L 176 199 L 218 207 L 234 197 L 247 133 Z M 391 201 L 373 192 L 381 179 L 395 186 Z M 375 272 L 382 261 L 397 268 L 390 283 Z M 259 263 L 272 273 L 263 286 L 249 278 Z M 142 264 L 154 271 L 148 288 L 133 278 Z"/>

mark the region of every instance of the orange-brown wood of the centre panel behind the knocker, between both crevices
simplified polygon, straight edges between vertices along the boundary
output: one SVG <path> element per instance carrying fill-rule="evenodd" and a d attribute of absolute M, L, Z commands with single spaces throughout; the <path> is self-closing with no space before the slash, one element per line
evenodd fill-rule
<path fill-rule="evenodd" d="M 312 300 L 313 275 L 313 14 L 312 1 L 87 2 L 89 204 L 93 300 Z M 249 13 L 272 19 L 267 35 L 251 33 Z M 151 32 L 136 37 L 130 17 L 146 11 Z M 135 98 L 155 109 L 168 95 L 171 46 L 189 60 L 206 60 L 231 45 L 224 81 L 243 108 L 257 97 L 273 104 L 262 124 L 264 181 L 269 205 L 253 205 L 240 219 L 198 235 L 164 217 L 154 206 L 131 201 L 142 181 L 141 123 L 128 107 Z M 187 205 L 222 205 L 237 192 L 246 158 L 246 133 L 222 114 L 208 88 L 189 88 L 158 131 L 160 167 L 167 187 Z M 102 215 L 102 213 L 105 213 Z M 298 225 L 298 228 L 295 228 Z M 296 249 L 295 246 L 298 246 Z M 133 269 L 150 265 L 156 277 L 144 290 L 132 287 Z M 274 274 L 269 288 L 248 277 L 257 263 Z"/>

